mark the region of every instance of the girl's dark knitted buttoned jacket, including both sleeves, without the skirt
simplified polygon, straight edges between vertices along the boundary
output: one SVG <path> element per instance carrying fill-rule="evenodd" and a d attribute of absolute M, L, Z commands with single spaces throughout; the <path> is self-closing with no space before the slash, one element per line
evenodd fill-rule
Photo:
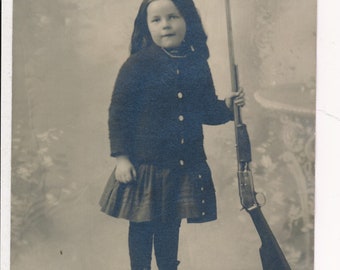
<path fill-rule="evenodd" d="M 194 52 L 171 58 L 152 45 L 129 57 L 118 74 L 109 108 L 111 155 L 138 164 L 195 164 L 206 159 L 202 124 L 232 119 L 215 95 L 206 60 Z"/>

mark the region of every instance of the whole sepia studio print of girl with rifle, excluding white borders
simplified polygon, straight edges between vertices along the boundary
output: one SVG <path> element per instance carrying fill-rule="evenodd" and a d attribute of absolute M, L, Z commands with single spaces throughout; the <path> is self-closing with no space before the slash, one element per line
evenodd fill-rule
<path fill-rule="evenodd" d="M 312 270 L 316 0 L 13 0 L 10 270 Z"/>

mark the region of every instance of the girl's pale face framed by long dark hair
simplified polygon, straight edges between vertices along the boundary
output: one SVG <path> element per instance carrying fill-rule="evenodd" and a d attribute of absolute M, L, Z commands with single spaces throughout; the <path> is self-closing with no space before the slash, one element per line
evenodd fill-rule
<path fill-rule="evenodd" d="M 184 40 L 186 23 L 171 0 L 156 0 L 147 8 L 147 24 L 156 45 L 165 49 L 179 47 Z"/>

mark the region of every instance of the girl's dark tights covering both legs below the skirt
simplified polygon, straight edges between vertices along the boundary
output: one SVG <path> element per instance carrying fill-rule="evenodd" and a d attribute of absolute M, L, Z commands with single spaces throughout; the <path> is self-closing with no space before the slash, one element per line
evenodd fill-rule
<path fill-rule="evenodd" d="M 151 269 L 152 243 L 159 270 L 176 270 L 180 221 L 130 222 L 129 253 L 132 270 Z"/>

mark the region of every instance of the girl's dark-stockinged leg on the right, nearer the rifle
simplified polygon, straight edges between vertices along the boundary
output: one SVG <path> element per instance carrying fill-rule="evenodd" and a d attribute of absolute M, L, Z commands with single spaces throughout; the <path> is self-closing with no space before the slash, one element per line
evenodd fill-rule
<path fill-rule="evenodd" d="M 154 246 L 159 270 L 176 270 L 180 220 L 155 224 Z"/>

